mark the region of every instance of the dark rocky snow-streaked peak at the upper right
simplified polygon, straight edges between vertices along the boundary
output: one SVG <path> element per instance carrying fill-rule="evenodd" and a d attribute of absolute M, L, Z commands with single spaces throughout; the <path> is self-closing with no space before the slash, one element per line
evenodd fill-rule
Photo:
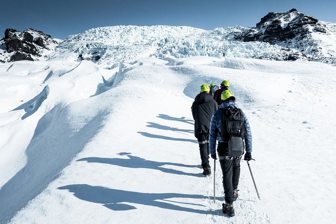
<path fill-rule="evenodd" d="M 239 33 L 236 39 L 267 42 L 296 49 L 309 60 L 336 63 L 336 24 L 319 21 L 295 9 L 267 14 L 256 28 Z"/>

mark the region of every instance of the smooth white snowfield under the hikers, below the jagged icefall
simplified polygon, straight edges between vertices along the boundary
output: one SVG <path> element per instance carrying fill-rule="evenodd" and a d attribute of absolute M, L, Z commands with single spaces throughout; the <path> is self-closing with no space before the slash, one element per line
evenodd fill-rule
<path fill-rule="evenodd" d="M 207 56 L 0 64 L 0 223 L 333 223 L 335 72 Z M 231 218 L 190 109 L 222 80 L 249 119 L 261 197 L 242 161 Z"/>

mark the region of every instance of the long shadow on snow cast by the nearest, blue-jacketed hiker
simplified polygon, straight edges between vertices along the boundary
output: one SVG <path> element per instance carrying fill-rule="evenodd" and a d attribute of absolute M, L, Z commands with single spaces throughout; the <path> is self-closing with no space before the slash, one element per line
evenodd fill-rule
<path fill-rule="evenodd" d="M 125 211 L 136 209 L 135 206 L 125 204 L 125 203 L 134 203 L 134 204 L 143 204 L 149 206 L 155 206 L 170 210 L 177 211 L 186 211 L 193 213 L 206 214 L 205 210 L 194 209 L 184 206 L 175 205 L 169 203 L 169 201 L 177 202 L 181 204 L 195 205 L 193 203 L 185 203 L 174 201 L 173 198 L 194 198 L 202 199 L 203 195 L 199 194 L 180 194 L 180 193 L 141 193 L 134 191 L 118 190 L 111 189 L 102 186 L 91 186 L 87 184 L 72 184 L 62 187 L 58 187 L 60 190 L 68 190 L 73 193 L 74 196 L 81 200 L 90 201 L 93 203 L 102 204 L 103 206 L 115 210 L 115 211 Z M 171 200 L 167 200 L 171 199 Z M 159 201 L 162 200 L 162 201 Z M 203 206 L 196 204 L 198 206 Z"/>

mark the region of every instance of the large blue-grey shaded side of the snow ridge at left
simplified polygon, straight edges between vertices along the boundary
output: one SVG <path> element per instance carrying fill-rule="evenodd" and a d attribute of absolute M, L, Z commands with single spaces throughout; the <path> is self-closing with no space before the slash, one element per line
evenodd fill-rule
<path fill-rule="evenodd" d="M 11 220 L 60 175 L 101 128 L 107 115 L 104 111 L 88 114 L 83 117 L 85 122 L 74 126 L 70 114 L 71 104 L 58 104 L 37 123 L 26 149 L 26 165 L 0 189 L 0 223 Z"/>

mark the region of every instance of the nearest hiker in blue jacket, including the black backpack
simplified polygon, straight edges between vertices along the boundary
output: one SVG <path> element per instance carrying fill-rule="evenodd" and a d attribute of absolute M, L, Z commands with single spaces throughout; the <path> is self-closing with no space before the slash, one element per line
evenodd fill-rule
<path fill-rule="evenodd" d="M 217 153 L 223 174 L 225 194 L 225 203 L 222 204 L 222 211 L 229 216 L 235 215 L 233 202 L 238 198 L 240 161 L 244 154 L 245 146 L 244 160 L 250 161 L 252 159 L 250 124 L 235 100 L 235 95 L 231 90 L 222 92 L 222 103 L 211 118 L 209 133 L 210 154 L 214 160 L 217 159 L 215 148 L 216 140 L 218 140 Z M 235 120 L 235 122 L 232 122 L 232 120 Z"/>

